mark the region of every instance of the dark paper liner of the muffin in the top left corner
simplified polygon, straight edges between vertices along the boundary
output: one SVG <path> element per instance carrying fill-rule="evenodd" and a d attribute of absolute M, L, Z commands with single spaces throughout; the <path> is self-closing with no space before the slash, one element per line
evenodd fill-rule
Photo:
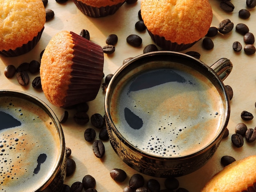
<path fill-rule="evenodd" d="M 9 49 L 8 51 L 2 50 L 2 51 L 0 51 L 0 55 L 2 55 L 4 57 L 16 57 L 16 56 L 20 56 L 22 54 L 25 54 L 25 53 L 31 51 L 34 47 L 36 47 L 36 44 L 40 40 L 44 29 L 45 29 L 45 27 L 43 27 L 43 29 L 40 32 L 38 32 L 38 35 L 35 36 L 28 43 L 23 44 L 21 47 L 18 47 L 14 50 L 12 50 L 12 49 Z"/>

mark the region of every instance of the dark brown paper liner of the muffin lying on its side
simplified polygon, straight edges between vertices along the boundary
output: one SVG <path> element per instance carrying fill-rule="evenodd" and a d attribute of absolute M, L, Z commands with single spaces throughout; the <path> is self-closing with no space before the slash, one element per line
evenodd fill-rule
<path fill-rule="evenodd" d="M 70 34 L 74 42 L 74 64 L 63 108 L 94 100 L 103 78 L 102 48 L 72 31 Z"/>

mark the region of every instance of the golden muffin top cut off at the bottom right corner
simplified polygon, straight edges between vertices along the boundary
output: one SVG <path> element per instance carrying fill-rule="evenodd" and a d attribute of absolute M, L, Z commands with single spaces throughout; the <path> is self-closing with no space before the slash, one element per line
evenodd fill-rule
<path fill-rule="evenodd" d="M 204 186 L 201 192 L 241 192 L 256 182 L 256 156 L 234 161 L 224 167 Z"/>

